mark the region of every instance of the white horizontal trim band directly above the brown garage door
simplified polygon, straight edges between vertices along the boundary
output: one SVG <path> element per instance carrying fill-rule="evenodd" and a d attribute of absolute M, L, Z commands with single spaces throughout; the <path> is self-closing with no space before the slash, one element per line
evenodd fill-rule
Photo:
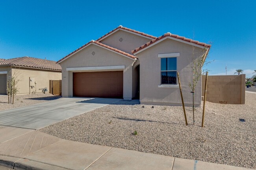
<path fill-rule="evenodd" d="M 99 70 L 123 70 L 125 66 L 96 66 L 96 67 L 72 67 L 67 71 L 99 71 Z"/>

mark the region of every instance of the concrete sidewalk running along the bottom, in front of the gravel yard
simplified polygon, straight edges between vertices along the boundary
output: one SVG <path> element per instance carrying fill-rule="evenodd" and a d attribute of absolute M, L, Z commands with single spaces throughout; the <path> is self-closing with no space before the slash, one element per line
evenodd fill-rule
<path fill-rule="evenodd" d="M 5 140 L 0 143 L 0 165 L 17 170 L 249 170 L 68 141 L 37 130 L 19 130 Z"/>

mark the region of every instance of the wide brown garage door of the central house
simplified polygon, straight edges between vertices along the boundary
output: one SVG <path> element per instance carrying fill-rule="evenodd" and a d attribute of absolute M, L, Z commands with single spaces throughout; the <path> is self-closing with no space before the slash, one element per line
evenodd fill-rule
<path fill-rule="evenodd" d="M 123 98 L 123 71 L 73 73 L 73 96 Z"/>

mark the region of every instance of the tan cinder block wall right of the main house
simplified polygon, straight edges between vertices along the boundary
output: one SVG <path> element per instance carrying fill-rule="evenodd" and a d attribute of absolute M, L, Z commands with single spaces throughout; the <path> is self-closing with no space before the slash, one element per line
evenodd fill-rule
<path fill-rule="evenodd" d="M 202 75 L 204 96 L 206 75 Z M 245 104 L 245 74 L 208 76 L 206 101 L 226 104 Z"/>

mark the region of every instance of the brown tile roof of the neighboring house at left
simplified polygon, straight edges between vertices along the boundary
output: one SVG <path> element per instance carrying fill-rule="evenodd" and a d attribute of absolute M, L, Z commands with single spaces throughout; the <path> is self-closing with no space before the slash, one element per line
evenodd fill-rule
<path fill-rule="evenodd" d="M 61 71 L 61 66 L 59 64 L 56 64 L 56 61 L 44 60 L 33 57 L 0 59 L 0 66 L 20 66 Z"/>

